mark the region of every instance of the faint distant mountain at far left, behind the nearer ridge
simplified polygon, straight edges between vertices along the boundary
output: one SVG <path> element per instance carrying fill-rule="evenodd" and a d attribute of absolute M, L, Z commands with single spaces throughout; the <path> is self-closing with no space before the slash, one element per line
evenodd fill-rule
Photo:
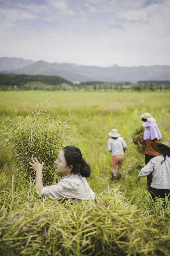
<path fill-rule="evenodd" d="M 24 60 L 22 58 L 0 58 L 0 71 L 7 71 L 11 69 L 25 68 L 34 63 L 32 60 Z"/>

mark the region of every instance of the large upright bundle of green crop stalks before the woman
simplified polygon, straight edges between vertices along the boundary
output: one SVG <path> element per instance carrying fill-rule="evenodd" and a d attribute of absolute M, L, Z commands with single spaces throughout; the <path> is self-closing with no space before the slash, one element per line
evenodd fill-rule
<path fill-rule="evenodd" d="M 17 183 L 22 182 L 23 186 L 27 185 L 30 176 L 35 179 L 35 172 L 29 165 L 31 157 L 45 162 L 42 177 L 44 186 L 50 186 L 54 178 L 58 179 L 54 161 L 60 150 L 71 142 L 66 121 L 62 122 L 60 116 L 50 116 L 52 109 L 48 113 L 44 111 L 50 105 L 49 98 L 47 94 L 39 104 L 40 109 L 31 115 L 6 118 L 2 126 L 11 160 L 18 169 Z"/>

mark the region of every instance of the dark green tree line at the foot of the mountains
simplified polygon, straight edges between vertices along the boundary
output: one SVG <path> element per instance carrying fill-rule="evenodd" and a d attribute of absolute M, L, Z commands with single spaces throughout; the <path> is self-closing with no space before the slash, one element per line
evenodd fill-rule
<path fill-rule="evenodd" d="M 35 83 L 34 83 L 35 82 Z M 42 83 L 42 84 L 38 84 Z M 87 81 L 73 84 L 59 76 L 25 75 L 25 74 L 1 74 L 0 91 L 8 90 L 132 90 L 132 91 L 155 91 L 170 90 L 170 81 L 138 81 L 137 83 L 124 82 L 101 82 Z"/>

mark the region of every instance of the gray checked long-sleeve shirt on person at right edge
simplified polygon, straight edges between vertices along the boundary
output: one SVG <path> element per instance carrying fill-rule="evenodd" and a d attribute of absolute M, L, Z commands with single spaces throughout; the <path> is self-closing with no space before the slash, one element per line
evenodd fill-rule
<path fill-rule="evenodd" d="M 163 160 L 163 155 L 153 157 L 139 173 L 139 177 L 142 177 L 153 172 L 152 188 L 170 189 L 170 157 L 166 156 Z"/>

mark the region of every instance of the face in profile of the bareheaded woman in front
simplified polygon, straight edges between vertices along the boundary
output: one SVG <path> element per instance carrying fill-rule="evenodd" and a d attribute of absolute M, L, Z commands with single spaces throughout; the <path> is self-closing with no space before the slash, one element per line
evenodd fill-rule
<path fill-rule="evenodd" d="M 56 172 L 61 173 L 63 176 L 67 176 L 72 173 L 72 165 L 67 166 L 66 158 L 64 157 L 63 150 L 60 151 L 57 160 L 54 162 L 56 167 Z"/>

